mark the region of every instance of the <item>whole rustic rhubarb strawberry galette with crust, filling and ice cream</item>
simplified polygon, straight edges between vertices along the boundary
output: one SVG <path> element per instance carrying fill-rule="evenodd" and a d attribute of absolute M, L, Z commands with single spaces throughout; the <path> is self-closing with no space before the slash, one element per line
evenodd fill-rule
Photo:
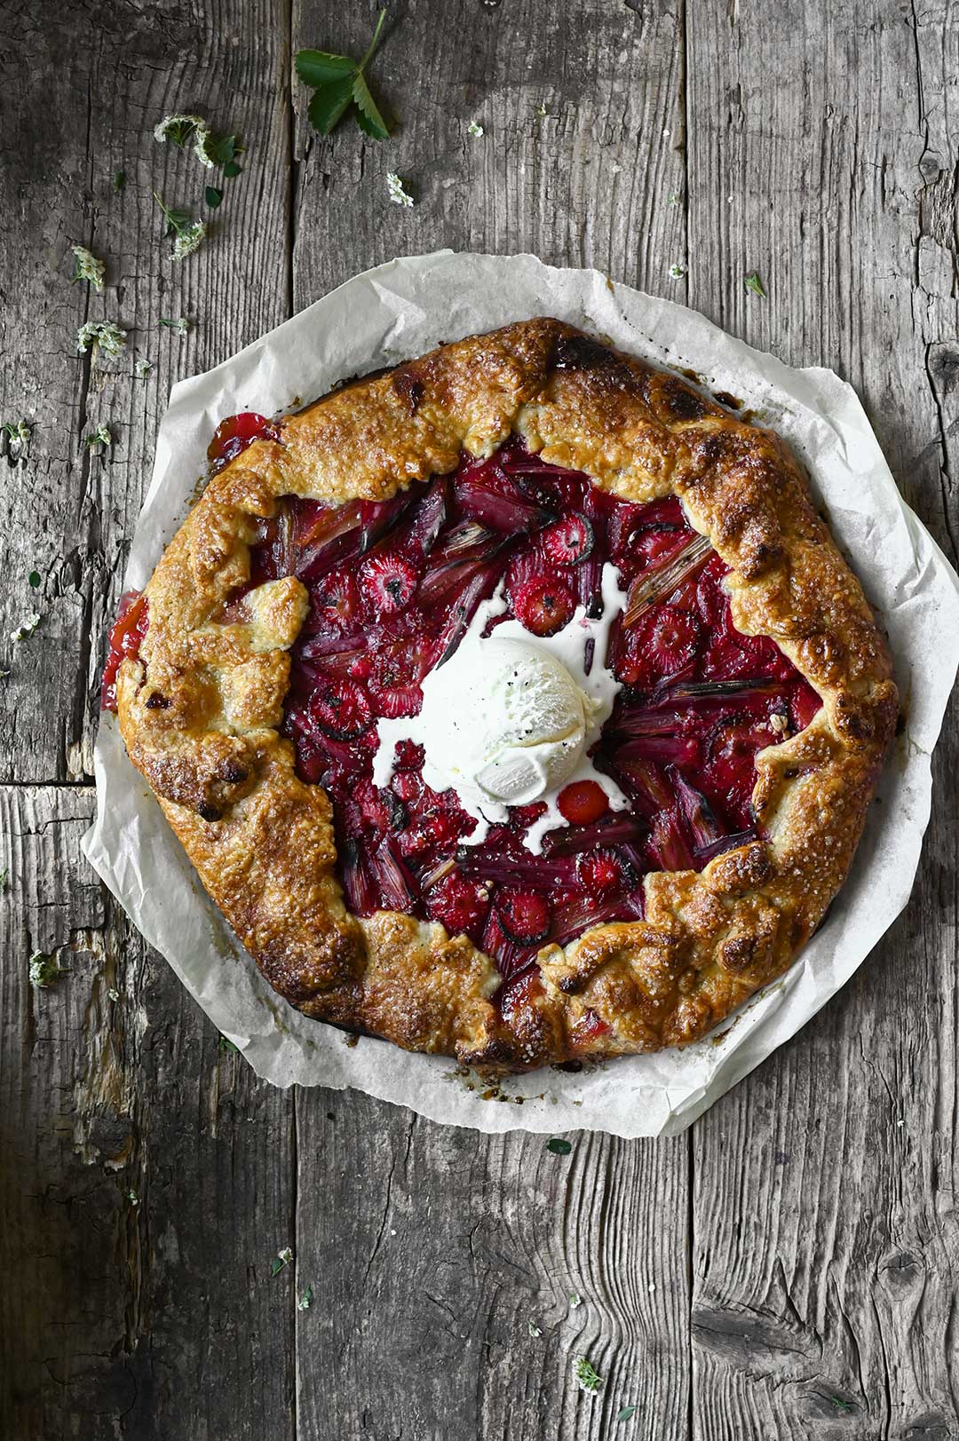
<path fill-rule="evenodd" d="M 532 320 L 211 454 L 105 703 L 281 996 L 525 1069 L 790 964 L 897 697 L 776 435 Z"/>

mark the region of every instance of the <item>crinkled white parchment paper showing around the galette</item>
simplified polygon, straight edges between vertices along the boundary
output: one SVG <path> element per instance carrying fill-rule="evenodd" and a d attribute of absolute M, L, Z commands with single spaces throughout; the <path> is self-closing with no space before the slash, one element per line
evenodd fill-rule
<path fill-rule="evenodd" d="M 567 1074 L 512 1078 L 483 1099 L 451 1061 L 345 1036 L 293 1010 L 206 896 L 141 777 L 114 718 L 95 752 L 97 818 L 84 850 L 219 1030 L 275 1085 L 356 1087 L 436 1121 L 483 1131 L 591 1128 L 617 1136 L 682 1131 L 759 1065 L 849 978 L 909 899 L 930 808 L 930 755 L 959 664 L 959 581 L 903 503 L 852 389 L 831 370 L 793 370 L 717 330 L 695 311 L 614 285 L 596 271 L 529 255 L 391 261 L 358 275 L 206 375 L 174 386 L 153 480 L 133 537 L 127 586 L 149 579 L 183 520 L 216 424 L 271 415 L 337 380 L 391 366 L 447 340 L 532 316 L 555 316 L 653 362 L 692 367 L 746 402 L 806 463 L 816 499 L 888 631 L 909 699 L 852 872 L 829 918 L 790 971 L 721 1035 Z M 522 1104 L 518 1104 L 522 1098 Z"/>

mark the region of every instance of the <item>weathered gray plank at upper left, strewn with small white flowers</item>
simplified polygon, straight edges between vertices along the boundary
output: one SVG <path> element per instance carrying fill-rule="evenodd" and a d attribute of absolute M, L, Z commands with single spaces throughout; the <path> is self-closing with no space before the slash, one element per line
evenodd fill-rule
<path fill-rule="evenodd" d="M 16 363 L 0 375 L 0 421 L 26 418 L 33 437 L 0 490 L 0 663 L 12 670 L 0 777 L 69 781 L 92 772 L 104 637 L 169 388 L 288 313 L 287 13 L 274 0 L 95 17 L 48 6 L 37 24 L 19 7 L 4 37 L 0 343 Z M 239 179 L 218 182 L 190 150 L 154 141 L 164 114 L 195 110 L 241 133 Z M 208 212 L 209 241 L 176 262 L 153 192 L 199 213 L 208 183 L 224 187 L 224 205 Z M 102 295 L 71 285 L 71 244 L 107 261 Z M 193 323 L 186 340 L 160 327 L 180 316 Z M 87 320 L 128 331 L 117 359 L 76 354 Z M 153 366 L 146 379 L 140 360 Z M 115 440 L 108 455 L 84 444 L 100 422 Z M 32 611 L 39 628 L 9 646 Z"/>

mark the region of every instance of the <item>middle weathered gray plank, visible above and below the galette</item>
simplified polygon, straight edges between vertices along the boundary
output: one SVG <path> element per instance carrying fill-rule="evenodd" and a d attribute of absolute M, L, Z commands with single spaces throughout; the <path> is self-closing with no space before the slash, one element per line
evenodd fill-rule
<path fill-rule="evenodd" d="M 684 190 L 676 16 L 600 0 L 448 13 L 411 0 L 384 42 L 374 88 L 399 114 L 388 143 L 355 127 L 319 138 L 297 97 L 296 307 L 444 245 L 671 293 L 685 225 L 669 200 Z M 359 55 L 369 27 L 361 7 L 301 3 L 294 49 Z M 412 209 L 388 202 L 388 170 Z M 297 1287 L 316 1295 L 297 1316 L 303 1435 L 606 1437 L 626 1404 L 633 1434 L 688 1435 L 688 1143 L 574 1140 L 564 1160 L 542 1137 L 299 1094 Z M 583 1353 L 606 1378 L 594 1401 L 573 1379 Z"/>

